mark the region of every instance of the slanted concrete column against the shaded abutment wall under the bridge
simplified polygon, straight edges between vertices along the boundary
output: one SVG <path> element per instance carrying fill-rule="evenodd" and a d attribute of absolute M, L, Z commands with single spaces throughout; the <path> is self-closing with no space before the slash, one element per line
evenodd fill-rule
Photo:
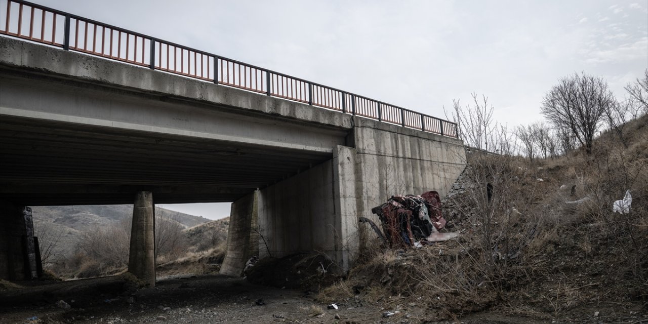
<path fill-rule="evenodd" d="M 257 223 L 257 192 L 232 203 L 227 230 L 227 252 L 220 273 L 240 276 L 248 259 L 253 253 L 259 253 L 258 236 L 251 235 L 256 234 L 253 223 Z"/>

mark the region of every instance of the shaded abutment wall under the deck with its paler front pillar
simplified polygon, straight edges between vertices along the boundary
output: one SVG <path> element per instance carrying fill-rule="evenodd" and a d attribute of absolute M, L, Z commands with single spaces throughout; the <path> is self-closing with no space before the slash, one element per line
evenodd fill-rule
<path fill-rule="evenodd" d="M 349 270 L 358 251 L 355 164 L 355 150 L 338 145 L 329 161 L 262 189 L 260 257 L 318 251 Z"/>

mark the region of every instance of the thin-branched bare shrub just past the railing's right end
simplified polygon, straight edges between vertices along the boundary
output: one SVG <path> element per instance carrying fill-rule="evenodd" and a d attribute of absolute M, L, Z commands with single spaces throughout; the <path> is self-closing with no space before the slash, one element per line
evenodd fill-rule
<path fill-rule="evenodd" d="M 493 106 L 488 103 L 488 97 L 481 95 L 481 100 L 476 93 L 471 93 L 474 106 L 461 108 L 459 100 L 452 100 L 453 112 L 446 111 L 446 117 L 457 123 L 459 137 L 465 145 L 480 150 L 492 150 L 494 147 L 493 134 L 497 123 L 492 119 Z"/>

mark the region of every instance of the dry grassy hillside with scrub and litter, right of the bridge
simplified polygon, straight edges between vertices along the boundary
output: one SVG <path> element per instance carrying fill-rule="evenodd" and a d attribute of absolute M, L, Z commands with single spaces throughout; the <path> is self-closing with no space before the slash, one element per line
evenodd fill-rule
<path fill-rule="evenodd" d="M 319 299 L 401 314 L 424 307 L 428 320 L 472 314 L 491 323 L 485 312 L 515 322 L 648 321 L 648 115 L 623 136 L 627 147 L 603 132 L 591 155 L 533 163 L 469 154 L 443 202 L 446 230 L 459 237 L 393 251 L 369 235 L 364 262 Z M 614 213 L 626 191 L 629 212 Z"/>

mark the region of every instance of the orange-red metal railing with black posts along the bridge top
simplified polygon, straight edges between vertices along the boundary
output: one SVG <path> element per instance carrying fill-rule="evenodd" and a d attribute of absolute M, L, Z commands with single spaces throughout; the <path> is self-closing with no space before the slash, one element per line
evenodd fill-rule
<path fill-rule="evenodd" d="M 444 119 L 35 3 L 0 1 L 0 34 L 457 137 L 457 125 Z"/>

